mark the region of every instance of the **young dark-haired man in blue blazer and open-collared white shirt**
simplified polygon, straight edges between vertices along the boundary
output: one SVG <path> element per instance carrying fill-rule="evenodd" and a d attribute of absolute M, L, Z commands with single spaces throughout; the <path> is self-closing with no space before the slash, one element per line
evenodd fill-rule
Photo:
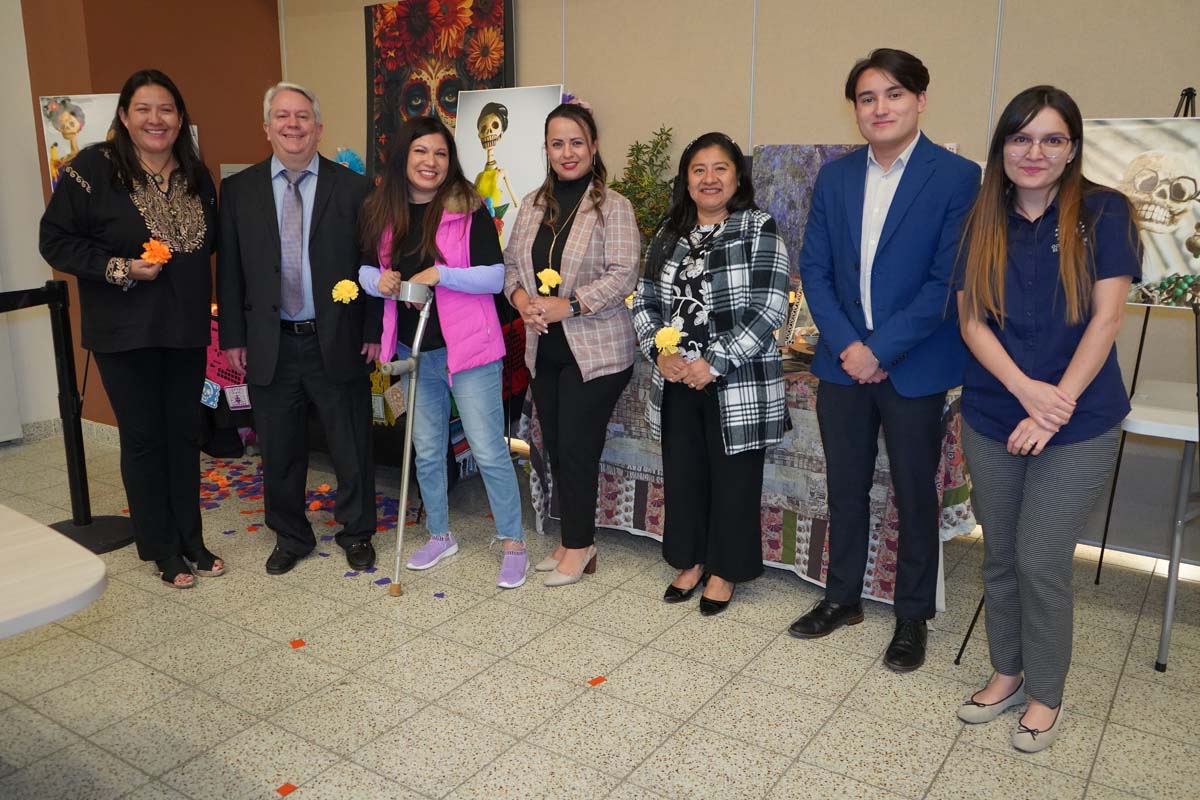
<path fill-rule="evenodd" d="M 929 71 L 904 50 L 877 49 L 854 65 L 846 100 L 869 146 L 821 169 L 800 252 L 821 331 L 812 372 L 830 533 L 824 600 L 791 632 L 816 638 L 863 621 L 882 423 L 900 512 L 896 627 L 884 663 L 898 672 L 924 663 L 925 620 L 936 610 L 942 408 L 966 356 L 949 283 L 979 187 L 978 166 L 922 134 L 928 85 Z"/>

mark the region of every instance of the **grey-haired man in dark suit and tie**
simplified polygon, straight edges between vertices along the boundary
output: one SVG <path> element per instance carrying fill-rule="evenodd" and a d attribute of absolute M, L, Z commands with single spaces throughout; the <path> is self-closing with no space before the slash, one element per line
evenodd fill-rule
<path fill-rule="evenodd" d="M 281 83 L 263 101 L 275 151 L 221 182 L 217 254 L 221 347 L 246 373 L 263 452 L 266 524 L 276 545 L 269 575 L 283 575 L 316 546 L 305 515 L 308 403 L 317 407 L 337 473 L 337 543 L 352 569 L 374 564 L 371 363 L 382 305 L 362 293 L 335 302 L 359 270 L 359 209 L 370 191 L 356 173 L 317 152 L 316 96 Z"/>

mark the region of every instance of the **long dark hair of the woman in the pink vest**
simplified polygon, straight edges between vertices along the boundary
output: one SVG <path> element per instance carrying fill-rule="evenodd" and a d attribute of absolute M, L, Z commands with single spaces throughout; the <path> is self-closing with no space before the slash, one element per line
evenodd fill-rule
<path fill-rule="evenodd" d="M 408 149 L 413 142 L 421 137 L 439 134 L 446 143 L 450 154 L 450 163 L 446 166 L 446 179 L 442 181 L 433 200 L 425 210 L 425 219 L 421 223 L 421 241 L 415 251 L 401 252 L 404 239 L 408 236 Z M 454 144 L 454 134 L 450 128 L 437 116 L 414 116 L 400 126 L 396 138 L 392 139 L 391 150 L 384 162 L 383 176 L 379 185 L 371 192 L 362 204 L 362 213 L 359 215 L 360 235 L 364 248 L 368 252 L 379 246 L 383 233 L 391 229 L 391 269 L 397 269 L 400 259 L 404 255 L 419 254 L 422 259 L 432 257 L 440 259 L 438 251 L 438 223 L 442 222 L 442 211 L 451 198 L 462 198 L 461 204 L 466 205 L 461 210 L 473 211 L 479 205 L 479 196 L 467 176 L 462 174 L 462 164 L 458 163 L 458 149 Z M 456 209 L 460 210 L 460 209 Z M 383 253 L 380 253 L 383 255 Z"/>

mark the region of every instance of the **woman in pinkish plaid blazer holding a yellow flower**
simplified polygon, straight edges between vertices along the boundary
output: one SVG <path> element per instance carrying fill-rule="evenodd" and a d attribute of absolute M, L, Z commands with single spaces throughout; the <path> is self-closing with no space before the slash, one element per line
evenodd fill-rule
<path fill-rule="evenodd" d="M 636 353 L 625 297 L 637 283 L 641 235 L 629 200 L 605 186 L 590 110 L 546 118 L 550 170 L 521 201 L 504 251 L 504 295 L 526 324 L 545 453 L 563 541 L 536 565 L 547 587 L 595 571 L 596 483 L 608 417 Z"/>

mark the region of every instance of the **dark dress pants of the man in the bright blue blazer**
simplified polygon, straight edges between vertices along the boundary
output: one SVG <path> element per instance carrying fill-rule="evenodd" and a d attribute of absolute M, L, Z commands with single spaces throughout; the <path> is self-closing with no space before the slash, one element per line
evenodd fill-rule
<path fill-rule="evenodd" d="M 817 422 L 829 492 L 829 575 L 826 597 L 853 604 L 863 594 L 870 527 L 870 492 L 880 425 L 900 513 L 895 614 L 932 619 L 936 613 L 938 521 L 937 464 L 942 455 L 946 392 L 905 397 L 890 380 L 845 386 L 822 380 Z"/>

